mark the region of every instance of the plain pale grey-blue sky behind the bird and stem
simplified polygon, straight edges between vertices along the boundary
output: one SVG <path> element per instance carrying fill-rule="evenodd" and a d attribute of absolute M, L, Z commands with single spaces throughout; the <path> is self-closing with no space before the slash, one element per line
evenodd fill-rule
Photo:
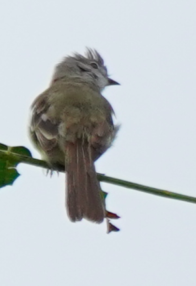
<path fill-rule="evenodd" d="M 26 146 L 32 100 L 54 65 L 96 48 L 121 86 L 121 123 L 97 171 L 196 196 L 196 1 L 0 1 L 0 142 Z M 69 222 L 64 176 L 20 165 L 0 190 L 1 286 L 195 286 L 196 205 L 103 183 L 121 219 Z"/>

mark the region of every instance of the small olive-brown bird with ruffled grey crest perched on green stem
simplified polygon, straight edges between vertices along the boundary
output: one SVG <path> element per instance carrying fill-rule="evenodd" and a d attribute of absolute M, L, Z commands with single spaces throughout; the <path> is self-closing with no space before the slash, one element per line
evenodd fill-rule
<path fill-rule="evenodd" d="M 50 86 L 31 105 L 29 134 L 51 168 L 66 171 L 66 209 L 71 221 L 101 223 L 105 207 L 94 161 L 112 144 L 118 131 L 112 106 L 101 94 L 119 83 L 108 77 L 94 49 L 65 57 Z"/>

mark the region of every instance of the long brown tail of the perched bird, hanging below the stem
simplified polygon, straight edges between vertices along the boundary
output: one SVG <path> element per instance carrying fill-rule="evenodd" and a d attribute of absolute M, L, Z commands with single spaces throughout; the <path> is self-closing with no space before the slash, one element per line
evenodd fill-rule
<path fill-rule="evenodd" d="M 105 211 L 90 145 L 77 139 L 66 144 L 66 209 L 71 221 L 82 218 L 101 223 Z"/>

